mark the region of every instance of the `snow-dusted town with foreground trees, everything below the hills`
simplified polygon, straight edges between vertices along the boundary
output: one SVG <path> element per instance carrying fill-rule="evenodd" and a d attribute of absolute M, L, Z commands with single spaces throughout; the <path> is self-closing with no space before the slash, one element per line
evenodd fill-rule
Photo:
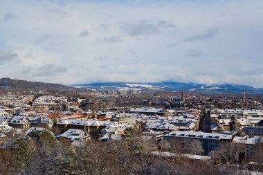
<path fill-rule="evenodd" d="M 262 172 L 262 102 L 246 92 L 2 92 L 0 166 L 3 174 Z"/>

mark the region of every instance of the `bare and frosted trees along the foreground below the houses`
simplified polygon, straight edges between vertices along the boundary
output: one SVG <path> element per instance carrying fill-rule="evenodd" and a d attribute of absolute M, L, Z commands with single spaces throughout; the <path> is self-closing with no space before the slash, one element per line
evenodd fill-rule
<path fill-rule="evenodd" d="M 82 142 L 82 141 L 80 141 Z M 156 144 L 141 136 L 137 129 L 127 129 L 120 142 L 91 140 L 73 147 L 71 142 L 58 142 L 50 131 L 35 131 L 23 138 L 14 138 L 0 149 L 0 174 L 240 174 L 263 171 L 263 149 L 251 160 L 257 165 L 248 167 L 238 160 L 242 147 L 222 144 L 212 152 L 210 162 L 193 162 L 183 154 L 203 154 L 201 142 L 165 142 Z M 177 156 L 156 156 L 153 151 L 174 153 Z M 224 166 L 217 166 L 219 160 Z M 231 165 L 239 165 L 233 168 Z M 237 166 L 235 166 L 237 167 Z M 237 171 L 238 170 L 238 171 Z"/>

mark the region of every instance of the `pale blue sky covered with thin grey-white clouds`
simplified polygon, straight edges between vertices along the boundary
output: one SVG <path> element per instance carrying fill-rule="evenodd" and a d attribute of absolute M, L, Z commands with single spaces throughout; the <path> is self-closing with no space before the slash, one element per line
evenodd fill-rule
<path fill-rule="evenodd" d="M 1 0 L 0 77 L 263 88 L 262 0 Z"/>

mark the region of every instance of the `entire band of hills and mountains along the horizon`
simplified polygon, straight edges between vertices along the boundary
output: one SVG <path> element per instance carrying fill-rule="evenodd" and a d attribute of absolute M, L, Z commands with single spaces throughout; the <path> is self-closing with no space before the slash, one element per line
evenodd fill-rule
<path fill-rule="evenodd" d="M 78 88 L 78 89 L 76 89 Z M 200 93 L 253 93 L 263 95 L 263 89 L 240 84 L 197 84 L 185 82 L 98 82 L 91 84 L 53 84 L 44 82 L 28 82 L 25 80 L 12 80 L 10 78 L 0 79 L 0 91 L 25 91 L 25 90 L 46 90 L 46 91 L 80 91 L 81 89 L 92 89 L 95 91 L 117 91 L 120 89 L 138 89 L 140 91 L 192 91 Z"/>

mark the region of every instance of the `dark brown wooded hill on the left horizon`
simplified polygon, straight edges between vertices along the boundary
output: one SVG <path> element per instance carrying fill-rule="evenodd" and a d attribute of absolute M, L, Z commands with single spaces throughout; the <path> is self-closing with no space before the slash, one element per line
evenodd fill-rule
<path fill-rule="evenodd" d="M 12 80 L 8 77 L 0 79 L 0 91 L 25 91 L 25 90 L 45 90 L 45 91 L 69 91 L 72 87 L 62 84 L 28 82 L 25 80 Z"/>

